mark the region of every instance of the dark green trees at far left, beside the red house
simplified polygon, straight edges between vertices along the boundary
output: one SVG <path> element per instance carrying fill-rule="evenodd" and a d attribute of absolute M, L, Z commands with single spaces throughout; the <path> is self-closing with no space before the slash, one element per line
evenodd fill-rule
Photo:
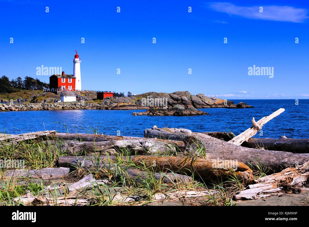
<path fill-rule="evenodd" d="M 7 76 L 0 77 L 0 92 L 12 93 L 20 90 L 43 90 L 44 88 L 49 88 L 49 83 L 42 82 L 38 78 L 25 77 L 23 80 L 17 77 L 10 81 Z"/>

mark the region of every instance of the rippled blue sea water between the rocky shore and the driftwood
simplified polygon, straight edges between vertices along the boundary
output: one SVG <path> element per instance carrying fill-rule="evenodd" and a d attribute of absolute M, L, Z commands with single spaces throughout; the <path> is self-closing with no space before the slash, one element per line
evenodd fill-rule
<path fill-rule="evenodd" d="M 256 121 L 268 116 L 279 108 L 285 111 L 266 123 L 263 138 L 279 138 L 282 135 L 292 138 L 309 137 L 309 99 L 282 100 L 232 100 L 245 102 L 255 108 L 201 109 L 210 115 L 203 116 L 132 116 L 133 112 L 143 110 L 51 110 L 51 111 L 14 111 L 0 112 L 0 133 L 11 134 L 41 130 L 58 132 L 99 133 L 123 136 L 143 137 L 145 128 L 187 128 L 193 132 L 231 131 L 235 135 L 252 126 L 252 117 Z M 259 137 L 256 134 L 256 137 Z"/>

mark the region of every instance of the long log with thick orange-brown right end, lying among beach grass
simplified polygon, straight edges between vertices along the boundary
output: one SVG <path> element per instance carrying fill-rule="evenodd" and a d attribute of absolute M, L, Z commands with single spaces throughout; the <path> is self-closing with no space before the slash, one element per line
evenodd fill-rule
<path fill-rule="evenodd" d="M 187 175 L 195 174 L 196 177 L 200 177 L 204 180 L 210 179 L 221 179 L 227 177 L 229 174 L 232 174 L 231 169 L 234 169 L 236 174 L 239 175 L 241 179 L 244 179 L 246 182 L 252 181 L 252 170 L 246 166 L 245 164 L 232 160 L 209 160 L 203 158 L 187 158 L 187 157 L 156 157 L 156 156 L 131 156 L 128 157 L 131 161 L 137 165 L 142 167 L 150 167 L 152 166 L 155 170 L 160 170 L 162 172 L 178 172 L 179 175 L 176 174 L 176 178 L 181 179 L 182 181 L 186 180 L 186 175 L 182 175 L 181 173 L 185 173 Z M 84 160 L 93 160 L 97 159 L 93 156 L 79 156 L 79 161 L 76 160 L 74 156 L 61 156 L 58 160 L 59 166 L 71 166 L 71 163 L 75 166 L 79 166 L 79 163 L 83 163 Z M 100 160 L 103 162 L 107 162 L 108 159 L 115 160 L 116 156 L 100 156 Z M 74 161 L 75 160 L 75 161 Z M 124 160 L 126 158 L 124 157 Z M 87 162 L 91 164 L 91 162 Z M 85 164 L 84 164 L 85 165 Z M 128 174 L 131 174 L 129 172 Z M 136 172 L 132 172 L 132 177 L 136 176 Z M 159 173 L 159 175 L 162 175 Z M 159 176 L 158 175 L 158 176 Z M 163 174 L 164 176 L 165 174 Z M 168 177 L 175 182 L 173 174 L 167 174 Z M 162 177 L 162 176 L 161 176 Z M 189 178 L 191 180 L 191 177 Z"/>

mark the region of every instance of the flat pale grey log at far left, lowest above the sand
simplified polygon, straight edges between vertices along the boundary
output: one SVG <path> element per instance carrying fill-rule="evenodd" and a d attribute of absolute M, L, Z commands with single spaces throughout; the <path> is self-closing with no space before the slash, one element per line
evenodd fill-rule
<path fill-rule="evenodd" d="M 41 178 L 41 179 L 56 179 L 66 176 L 70 173 L 70 168 L 43 168 L 37 170 L 7 170 L 3 176 L 5 178 L 11 177 L 27 177 L 27 178 Z"/>

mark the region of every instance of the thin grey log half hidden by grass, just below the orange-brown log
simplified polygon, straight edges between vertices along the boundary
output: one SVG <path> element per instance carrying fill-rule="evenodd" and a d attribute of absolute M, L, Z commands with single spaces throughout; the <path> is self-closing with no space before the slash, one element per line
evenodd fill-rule
<path fill-rule="evenodd" d="M 78 157 L 71 161 L 71 165 L 75 167 L 82 167 L 87 170 L 93 169 L 95 166 L 97 168 L 104 168 L 111 172 L 116 178 L 120 175 L 125 175 L 129 179 L 135 179 L 136 181 L 144 180 L 149 178 L 149 173 L 134 169 L 132 167 L 127 167 L 123 165 L 116 165 L 113 163 L 106 162 L 106 159 L 100 159 L 100 163 L 97 163 L 97 160 L 93 158 L 82 158 Z M 186 183 L 193 182 L 193 179 L 186 175 L 176 174 L 176 173 L 155 173 L 155 178 L 161 180 L 162 183 Z"/>

